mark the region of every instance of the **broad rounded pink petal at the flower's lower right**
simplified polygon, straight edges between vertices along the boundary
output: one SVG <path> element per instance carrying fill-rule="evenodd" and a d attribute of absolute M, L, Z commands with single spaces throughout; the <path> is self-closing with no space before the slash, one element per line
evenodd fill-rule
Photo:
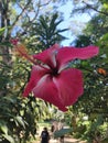
<path fill-rule="evenodd" d="M 79 69 L 69 68 L 63 70 L 54 78 L 64 106 L 75 103 L 79 96 L 83 95 L 83 75 Z"/>

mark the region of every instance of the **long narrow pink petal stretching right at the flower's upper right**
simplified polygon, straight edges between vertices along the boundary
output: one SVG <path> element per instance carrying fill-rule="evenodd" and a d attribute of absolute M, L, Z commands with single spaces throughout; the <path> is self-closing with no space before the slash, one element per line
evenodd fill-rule
<path fill-rule="evenodd" d="M 64 65 L 65 63 L 79 58 L 79 59 L 86 59 L 94 57 L 98 54 L 98 47 L 97 46 L 87 46 L 87 47 L 82 47 L 82 48 L 76 48 L 76 47 L 63 47 L 60 48 L 57 55 L 56 55 L 56 61 L 58 66 Z"/>

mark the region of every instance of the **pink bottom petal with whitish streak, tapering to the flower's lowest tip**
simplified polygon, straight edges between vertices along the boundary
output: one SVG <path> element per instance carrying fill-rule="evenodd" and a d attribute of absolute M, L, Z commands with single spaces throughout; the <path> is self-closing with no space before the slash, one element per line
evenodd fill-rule
<path fill-rule="evenodd" d="M 43 76 L 33 89 L 35 97 L 41 98 L 54 106 L 58 107 L 62 111 L 67 111 L 65 106 L 62 103 L 58 95 L 58 89 L 53 82 L 51 75 Z"/>

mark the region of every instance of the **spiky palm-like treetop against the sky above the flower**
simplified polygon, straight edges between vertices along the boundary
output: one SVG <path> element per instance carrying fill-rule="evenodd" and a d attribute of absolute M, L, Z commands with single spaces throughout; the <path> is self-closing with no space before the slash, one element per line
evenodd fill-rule
<path fill-rule="evenodd" d="M 61 43 L 66 38 L 61 33 L 68 30 L 60 30 L 57 28 L 62 22 L 63 20 L 58 20 L 57 13 L 53 15 L 41 15 L 39 21 L 34 22 L 32 28 L 29 30 L 29 45 L 40 51 L 45 50 L 55 43 Z"/>

